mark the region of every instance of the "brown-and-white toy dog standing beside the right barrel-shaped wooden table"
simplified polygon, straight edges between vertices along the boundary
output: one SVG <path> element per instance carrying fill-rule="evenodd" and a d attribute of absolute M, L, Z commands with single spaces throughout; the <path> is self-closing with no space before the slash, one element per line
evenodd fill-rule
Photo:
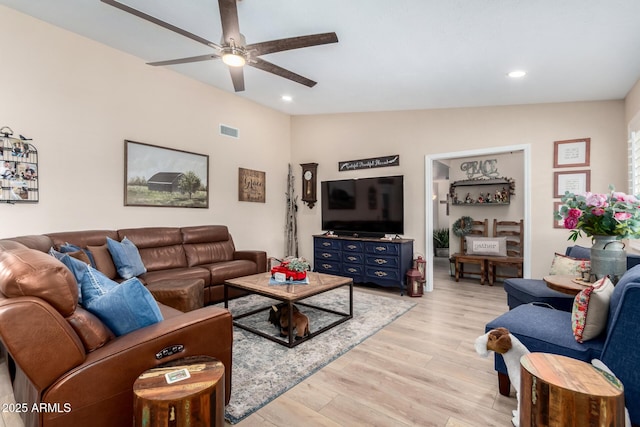
<path fill-rule="evenodd" d="M 520 358 L 529 354 L 529 350 L 516 338 L 509 333 L 506 328 L 492 329 L 484 335 L 476 338 L 476 352 L 482 356 L 489 356 L 490 351 L 494 351 L 502 355 L 505 365 L 507 365 L 507 373 L 509 380 L 516 389 L 516 400 L 518 406 L 513 411 L 511 423 L 518 427 L 520 425 Z"/>

